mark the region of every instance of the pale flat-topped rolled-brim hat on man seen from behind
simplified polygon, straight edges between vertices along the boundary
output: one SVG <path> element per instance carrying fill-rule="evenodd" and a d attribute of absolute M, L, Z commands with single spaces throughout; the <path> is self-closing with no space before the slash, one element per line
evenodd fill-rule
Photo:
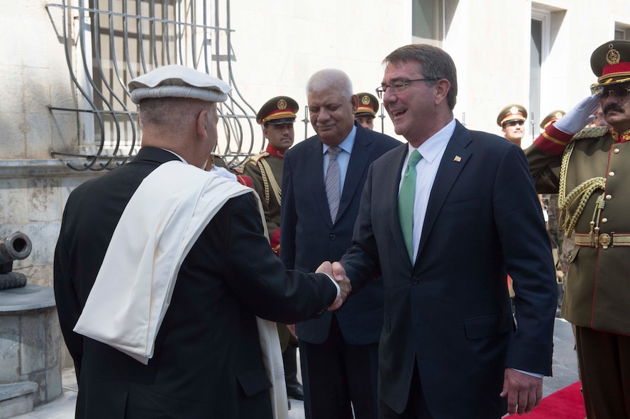
<path fill-rule="evenodd" d="M 129 82 L 131 101 L 148 98 L 182 97 L 224 102 L 232 88 L 222 80 L 183 65 L 165 65 Z"/>

